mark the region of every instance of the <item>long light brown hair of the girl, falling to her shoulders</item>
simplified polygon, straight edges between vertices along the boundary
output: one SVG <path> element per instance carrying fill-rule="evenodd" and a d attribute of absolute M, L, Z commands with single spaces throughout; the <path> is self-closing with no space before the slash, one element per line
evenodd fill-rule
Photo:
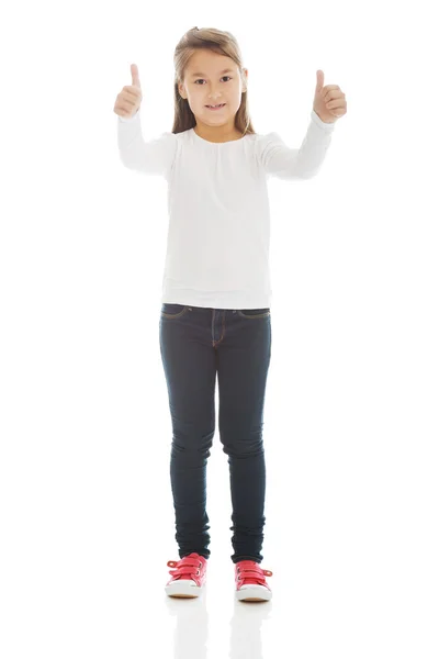
<path fill-rule="evenodd" d="M 172 133 L 182 133 L 196 125 L 195 115 L 192 112 L 188 99 L 180 96 L 179 83 L 184 80 L 184 71 L 189 59 L 195 51 L 209 49 L 218 55 L 230 57 L 238 65 L 243 82 L 245 74 L 243 72 L 243 57 L 238 42 L 230 32 L 223 32 L 215 27 L 192 27 L 177 44 L 173 54 L 173 66 L 176 70 L 173 83 L 175 114 Z M 244 135 L 255 134 L 250 115 L 248 112 L 247 91 L 243 91 L 240 107 L 235 114 L 235 126 Z"/>

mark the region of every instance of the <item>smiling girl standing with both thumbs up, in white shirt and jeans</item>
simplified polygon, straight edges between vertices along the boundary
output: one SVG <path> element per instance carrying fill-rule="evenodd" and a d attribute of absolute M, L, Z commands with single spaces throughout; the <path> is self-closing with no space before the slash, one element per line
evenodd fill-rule
<path fill-rule="evenodd" d="M 228 456 L 232 545 L 238 600 L 271 599 L 260 563 L 266 522 L 263 401 L 271 355 L 270 210 L 267 179 L 316 175 L 334 122 L 346 113 L 338 86 L 317 87 L 300 149 L 259 135 L 248 112 L 248 70 L 229 32 L 193 27 L 175 52 L 171 132 L 145 142 L 136 65 L 117 94 L 125 167 L 168 182 L 169 231 L 159 322 L 172 421 L 170 478 L 179 561 L 166 584 L 198 596 L 210 557 L 206 463 L 215 433 Z"/>

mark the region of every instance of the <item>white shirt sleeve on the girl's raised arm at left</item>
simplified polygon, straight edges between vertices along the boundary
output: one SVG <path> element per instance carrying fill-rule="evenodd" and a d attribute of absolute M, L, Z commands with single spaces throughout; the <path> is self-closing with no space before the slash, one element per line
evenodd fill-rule
<path fill-rule="evenodd" d="M 123 119 L 117 115 L 117 147 L 125 167 L 147 175 L 168 178 L 177 150 L 175 133 L 162 133 L 146 142 L 142 134 L 140 113 Z"/>

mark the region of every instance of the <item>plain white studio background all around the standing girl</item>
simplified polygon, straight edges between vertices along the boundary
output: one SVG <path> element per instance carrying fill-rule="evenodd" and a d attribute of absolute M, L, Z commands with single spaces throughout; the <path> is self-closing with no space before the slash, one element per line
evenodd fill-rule
<path fill-rule="evenodd" d="M 271 659 L 279 647 L 285 657 L 437 659 L 431 10 L 40 2 L 1 21 L 3 659 Z M 273 599 L 250 614 L 232 610 L 217 432 L 209 607 L 175 607 L 164 592 L 166 562 L 178 559 L 158 335 L 167 183 L 123 167 L 113 112 L 135 63 L 144 137 L 171 131 L 173 49 L 195 25 L 237 37 L 258 133 L 301 145 L 317 69 L 348 102 L 318 176 L 269 183 L 262 567 Z"/>

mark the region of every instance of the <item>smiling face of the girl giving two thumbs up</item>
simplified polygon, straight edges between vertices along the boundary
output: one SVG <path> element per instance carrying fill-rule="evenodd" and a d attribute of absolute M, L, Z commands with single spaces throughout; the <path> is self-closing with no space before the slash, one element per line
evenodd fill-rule
<path fill-rule="evenodd" d="M 243 85 L 239 68 L 230 57 L 205 49 L 196 51 L 187 66 L 184 82 L 179 85 L 180 93 L 188 99 L 196 123 L 233 131 L 241 93 L 247 89 L 247 69 L 244 69 L 244 76 Z M 218 103 L 225 103 L 224 108 L 207 108 Z"/>

